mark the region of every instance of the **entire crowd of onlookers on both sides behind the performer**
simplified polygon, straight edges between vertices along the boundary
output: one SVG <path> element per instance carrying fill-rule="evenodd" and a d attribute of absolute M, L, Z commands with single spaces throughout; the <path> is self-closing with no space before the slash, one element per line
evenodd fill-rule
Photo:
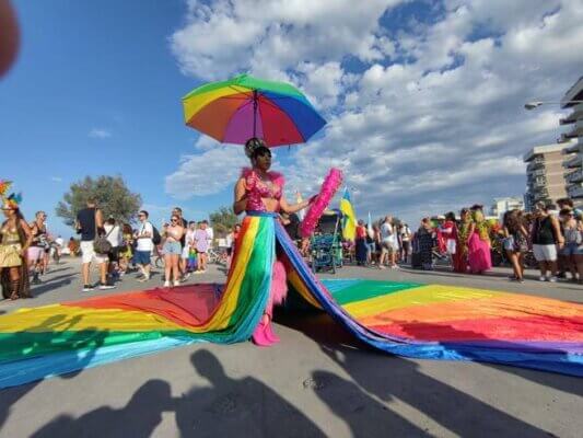
<path fill-rule="evenodd" d="M 0 229 L 0 267 L 4 298 L 31 296 L 31 284 L 42 283 L 50 257 L 61 253 L 82 257 L 83 291 L 95 287 L 112 289 L 129 272 L 138 273 L 139 281 L 151 279 L 152 256 L 163 260 L 163 286 L 174 287 L 191 274 L 207 270 L 208 252 L 213 240 L 208 221 L 187 221 L 183 210 L 172 210 L 170 221 L 159 231 L 141 210 L 138 223 L 118 223 L 105 219 L 94 200 L 79 211 L 75 228 L 80 239 L 68 245 L 54 238 L 46 226 L 47 215 L 38 211 L 27 222 L 14 196 L 2 205 L 5 221 Z M 299 220 L 282 217 L 288 232 L 298 228 Z M 231 263 L 241 226 L 226 235 L 226 267 Z M 299 241 L 301 252 L 310 256 L 310 240 Z M 97 244 L 100 243 L 100 244 Z M 349 245 L 350 246 L 350 245 Z M 381 269 L 398 269 L 410 264 L 413 268 L 433 269 L 438 261 L 448 261 L 456 273 L 483 274 L 492 268 L 492 254 L 498 253 L 513 268 L 512 280 L 524 281 L 525 260 L 536 260 L 540 281 L 555 283 L 569 278 L 583 284 L 583 217 L 571 199 L 557 205 L 538 203 L 532 212 L 506 211 L 501 221 L 487 220 L 482 206 L 463 208 L 434 218 L 423 218 L 411 231 L 392 216 L 374 223 L 360 220 L 355 230 L 353 254 L 358 265 Z M 91 265 L 100 272 L 98 284 L 90 280 Z"/>

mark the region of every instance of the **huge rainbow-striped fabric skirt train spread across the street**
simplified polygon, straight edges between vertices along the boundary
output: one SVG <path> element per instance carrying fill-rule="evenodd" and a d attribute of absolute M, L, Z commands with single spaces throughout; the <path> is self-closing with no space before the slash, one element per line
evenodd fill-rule
<path fill-rule="evenodd" d="M 250 337 L 282 260 L 290 288 L 360 341 L 410 358 L 583 377 L 583 306 L 451 286 L 318 280 L 272 215 L 248 216 L 225 285 L 110 295 L 0 316 L 0 388 L 195 342 Z"/>

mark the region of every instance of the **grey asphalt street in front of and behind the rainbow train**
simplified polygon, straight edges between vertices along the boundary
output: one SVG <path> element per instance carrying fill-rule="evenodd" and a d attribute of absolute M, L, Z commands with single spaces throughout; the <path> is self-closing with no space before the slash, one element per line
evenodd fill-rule
<path fill-rule="evenodd" d="M 520 285 L 508 269 L 343 267 L 335 276 L 516 291 L 583 302 L 570 283 Z M 222 283 L 222 268 L 189 283 Z M 79 262 L 0 312 L 161 285 L 126 276 L 81 293 Z M 281 343 L 198 344 L 0 391 L 1 437 L 580 437 L 583 379 L 488 364 L 409 360 L 359 345 L 324 314 L 280 313 Z"/>

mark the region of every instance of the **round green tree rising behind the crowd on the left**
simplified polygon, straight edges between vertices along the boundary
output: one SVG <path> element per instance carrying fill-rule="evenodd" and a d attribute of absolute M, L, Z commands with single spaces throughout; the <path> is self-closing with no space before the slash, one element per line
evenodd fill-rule
<path fill-rule="evenodd" d="M 86 207 L 91 198 L 95 199 L 105 218 L 113 216 L 123 222 L 132 222 L 142 205 L 141 196 L 130 192 L 121 176 L 85 176 L 71 184 L 57 205 L 56 214 L 65 223 L 73 227 L 77 214 Z"/>

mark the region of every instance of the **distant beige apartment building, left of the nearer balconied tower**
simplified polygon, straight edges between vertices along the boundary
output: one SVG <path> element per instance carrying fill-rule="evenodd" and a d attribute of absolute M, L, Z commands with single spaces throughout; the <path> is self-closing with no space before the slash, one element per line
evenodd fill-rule
<path fill-rule="evenodd" d="M 573 153 L 563 153 L 571 145 L 545 145 L 534 147 L 524 155 L 526 165 L 525 208 L 530 210 L 537 201 L 556 203 L 567 197 L 563 161 Z"/>

